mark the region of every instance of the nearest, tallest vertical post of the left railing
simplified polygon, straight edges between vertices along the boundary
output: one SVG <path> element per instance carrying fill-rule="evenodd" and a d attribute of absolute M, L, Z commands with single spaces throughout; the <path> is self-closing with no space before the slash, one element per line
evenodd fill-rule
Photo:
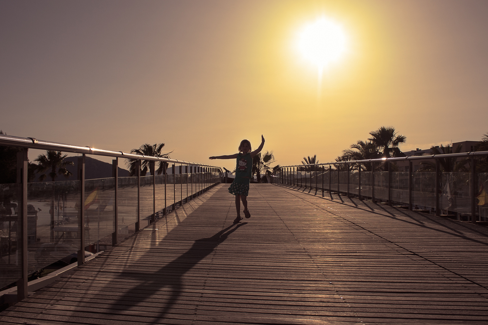
<path fill-rule="evenodd" d="M 17 206 L 17 216 L 20 216 L 20 279 L 17 280 L 17 301 L 28 296 L 27 277 L 27 148 L 17 153 L 17 183 L 20 183 L 20 204 Z M 19 219 L 17 219 L 19 220 Z"/>

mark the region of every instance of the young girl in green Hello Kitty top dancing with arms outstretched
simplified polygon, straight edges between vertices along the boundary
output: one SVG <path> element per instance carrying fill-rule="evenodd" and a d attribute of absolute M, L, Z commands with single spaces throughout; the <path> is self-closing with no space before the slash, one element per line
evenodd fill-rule
<path fill-rule="evenodd" d="M 252 158 L 256 156 L 264 146 L 264 137 L 261 135 L 261 145 L 251 152 L 251 143 L 249 140 L 241 141 L 239 153 L 227 156 L 212 156 L 208 159 L 234 159 L 236 158 L 236 178 L 229 186 L 229 193 L 236 196 L 237 217 L 234 224 L 241 221 L 241 200 L 244 205 L 244 217 L 250 218 L 251 214 L 247 210 L 247 195 L 249 193 L 249 182 L 251 181 Z"/>

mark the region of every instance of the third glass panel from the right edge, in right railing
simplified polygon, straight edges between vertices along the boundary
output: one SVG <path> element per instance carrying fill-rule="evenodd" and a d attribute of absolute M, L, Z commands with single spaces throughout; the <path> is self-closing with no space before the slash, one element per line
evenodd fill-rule
<path fill-rule="evenodd" d="M 435 208 L 435 172 L 412 174 L 412 208 L 415 210 Z"/>

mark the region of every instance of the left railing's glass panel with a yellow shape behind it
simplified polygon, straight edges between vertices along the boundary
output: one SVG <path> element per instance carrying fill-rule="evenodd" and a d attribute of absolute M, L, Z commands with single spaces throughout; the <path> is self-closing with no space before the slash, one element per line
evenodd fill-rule
<path fill-rule="evenodd" d="M 86 245 L 115 232 L 114 205 L 115 180 L 113 178 L 85 181 Z"/>

